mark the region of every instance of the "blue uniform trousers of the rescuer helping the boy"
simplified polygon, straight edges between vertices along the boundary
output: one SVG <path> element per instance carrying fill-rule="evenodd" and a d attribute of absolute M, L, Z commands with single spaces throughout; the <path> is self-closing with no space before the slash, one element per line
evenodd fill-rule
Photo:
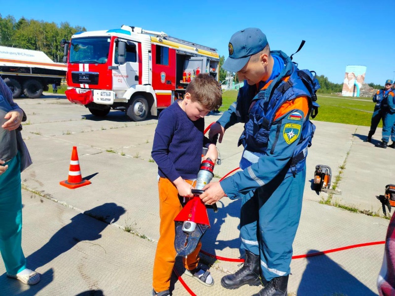
<path fill-rule="evenodd" d="M 267 281 L 291 272 L 292 243 L 302 211 L 306 165 L 295 177 L 276 177 L 241 201 L 241 249 L 260 254 Z"/>

